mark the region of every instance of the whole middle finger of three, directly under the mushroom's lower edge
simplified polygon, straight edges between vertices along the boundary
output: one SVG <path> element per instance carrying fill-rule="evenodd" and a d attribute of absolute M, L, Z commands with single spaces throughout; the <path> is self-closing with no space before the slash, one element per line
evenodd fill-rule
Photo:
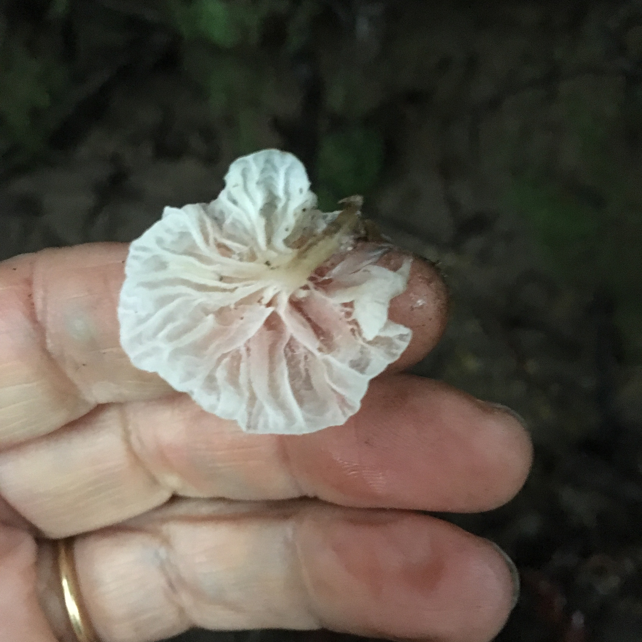
<path fill-rule="evenodd" d="M 51 537 L 118 523 L 172 494 L 465 512 L 512 498 L 531 458 L 513 415 L 399 374 L 374 381 L 344 426 L 311 435 L 248 435 L 186 395 L 103 406 L 0 453 L 0 494 Z"/>

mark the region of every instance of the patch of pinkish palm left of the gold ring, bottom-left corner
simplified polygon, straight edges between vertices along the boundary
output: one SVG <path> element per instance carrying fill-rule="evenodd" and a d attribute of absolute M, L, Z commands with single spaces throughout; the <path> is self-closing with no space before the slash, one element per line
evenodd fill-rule
<path fill-rule="evenodd" d="M 35 541 L 0 526 L 0 639 L 56 642 L 37 592 Z"/>

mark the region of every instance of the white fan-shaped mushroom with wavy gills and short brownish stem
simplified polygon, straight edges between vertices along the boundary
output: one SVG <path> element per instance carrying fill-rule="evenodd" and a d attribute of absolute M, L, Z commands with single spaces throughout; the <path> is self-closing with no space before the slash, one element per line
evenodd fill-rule
<path fill-rule="evenodd" d="M 166 207 L 136 239 L 118 308 L 135 367 L 252 433 L 343 424 L 411 331 L 388 319 L 410 259 L 353 248 L 360 200 L 322 213 L 300 161 L 232 163 L 209 205 Z"/>

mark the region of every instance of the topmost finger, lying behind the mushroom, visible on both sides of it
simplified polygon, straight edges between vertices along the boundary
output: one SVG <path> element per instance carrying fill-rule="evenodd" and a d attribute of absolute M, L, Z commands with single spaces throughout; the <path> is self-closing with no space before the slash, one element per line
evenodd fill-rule
<path fill-rule="evenodd" d="M 137 370 L 120 346 L 116 308 L 128 247 L 44 250 L 0 264 L 0 447 L 37 437 L 98 404 L 171 392 Z M 386 261 L 393 261 L 390 256 Z M 433 268 L 414 261 L 394 320 L 415 338 L 403 364 L 421 360 L 444 326 Z"/>

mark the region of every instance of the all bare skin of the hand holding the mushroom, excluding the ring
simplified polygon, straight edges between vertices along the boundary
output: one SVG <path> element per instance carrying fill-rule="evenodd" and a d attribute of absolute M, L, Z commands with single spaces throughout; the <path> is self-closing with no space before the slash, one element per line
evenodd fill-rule
<path fill-rule="evenodd" d="M 0 639 L 73 641 L 49 541 L 70 535 L 103 642 L 193 626 L 492 639 L 514 600 L 505 560 L 417 511 L 502 505 L 532 447 L 512 414 L 403 373 L 446 323 L 434 268 L 413 261 L 390 312 L 412 343 L 360 412 L 284 437 L 242 433 L 130 364 L 126 252 L 0 263 Z"/>

